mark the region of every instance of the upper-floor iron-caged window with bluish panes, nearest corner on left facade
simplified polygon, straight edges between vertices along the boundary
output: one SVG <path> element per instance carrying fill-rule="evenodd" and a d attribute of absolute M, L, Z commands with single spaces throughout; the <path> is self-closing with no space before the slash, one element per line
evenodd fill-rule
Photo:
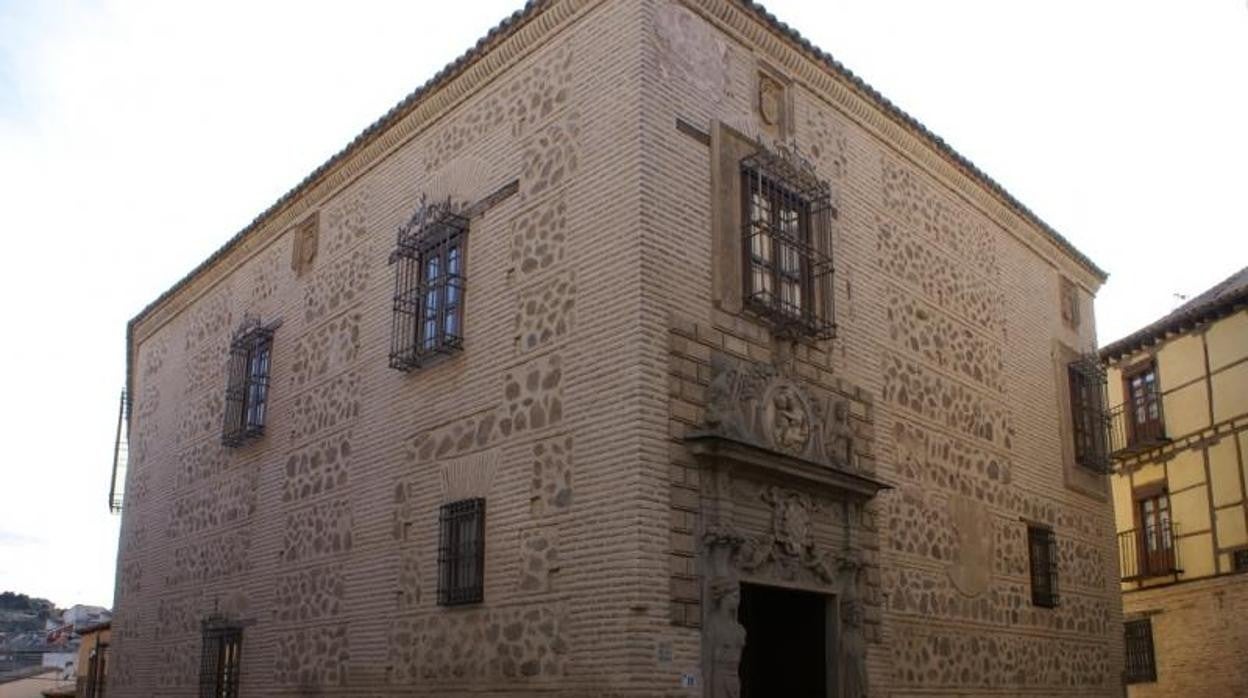
<path fill-rule="evenodd" d="M 463 348 L 467 236 L 468 219 L 449 201 L 422 204 L 399 229 L 391 253 L 396 266 L 392 368 L 411 371 Z"/>

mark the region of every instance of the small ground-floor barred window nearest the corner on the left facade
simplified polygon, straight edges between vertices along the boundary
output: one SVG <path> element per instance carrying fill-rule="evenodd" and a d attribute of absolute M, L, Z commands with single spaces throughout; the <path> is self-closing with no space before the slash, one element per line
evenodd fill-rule
<path fill-rule="evenodd" d="M 443 504 L 438 519 L 438 603 L 478 603 L 485 588 L 485 499 Z"/>

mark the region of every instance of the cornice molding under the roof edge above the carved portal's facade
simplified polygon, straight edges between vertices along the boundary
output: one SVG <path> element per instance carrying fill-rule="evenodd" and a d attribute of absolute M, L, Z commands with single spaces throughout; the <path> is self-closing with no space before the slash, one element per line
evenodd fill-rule
<path fill-rule="evenodd" d="M 914 164 L 922 167 L 950 190 L 962 196 L 970 205 L 996 221 L 1025 246 L 1035 251 L 1055 268 L 1073 277 L 1088 292 L 1094 293 L 1104 282 L 1103 272 L 1091 262 L 1078 258 L 1076 253 L 1065 250 L 1070 245 L 1055 240 L 1056 232 L 1041 229 L 1017 206 L 993 190 L 995 182 L 985 181 L 983 176 L 968 172 L 953 161 L 943 150 L 951 150 L 930 132 L 907 124 L 891 104 L 885 109 L 880 102 L 887 101 L 864 90 L 857 80 L 829 65 L 831 60 L 815 56 L 819 50 L 802 46 L 791 36 L 785 36 L 775 25 L 763 21 L 758 11 L 743 7 L 733 0 L 679 0 L 690 10 L 713 22 L 720 30 L 734 36 L 746 47 L 765 56 L 771 64 L 789 71 L 799 84 L 821 97 L 830 106 L 842 112 L 857 125 L 880 139 Z M 1028 212 L 1030 214 L 1030 212 Z M 1033 216 L 1033 214 L 1030 214 Z"/>

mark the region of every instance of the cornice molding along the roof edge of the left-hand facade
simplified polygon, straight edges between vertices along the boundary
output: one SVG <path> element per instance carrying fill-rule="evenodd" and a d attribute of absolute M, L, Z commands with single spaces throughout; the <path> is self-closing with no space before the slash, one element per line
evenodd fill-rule
<path fill-rule="evenodd" d="M 424 132 L 603 0 L 548 0 L 522 17 L 518 27 L 495 39 L 493 31 L 464 56 L 442 69 L 424 86 L 394 106 L 317 171 L 283 195 L 208 260 L 141 311 L 129 328 L 130 351 L 208 293 L 256 253 L 276 241 L 305 215 L 377 166 L 393 151 Z M 513 16 L 513 20 L 515 17 Z M 492 40 L 498 44 L 489 46 Z M 461 66 L 466 62 L 467 65 Z M 413 100 L 412 104 L 406 104 Z M 396 114 L 398 112 L 398 114 Z M 132 362 L 136 357 L 130 356 Z M 129 383 L 127 376 L 127 383 Z M 132 387 L 132 386 L 130 386 Z"/>

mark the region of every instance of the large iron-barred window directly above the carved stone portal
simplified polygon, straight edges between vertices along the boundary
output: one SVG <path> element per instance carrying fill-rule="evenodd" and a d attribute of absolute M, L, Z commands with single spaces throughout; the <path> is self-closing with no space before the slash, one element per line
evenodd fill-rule
<path fill-rule="evenodd" d="M 831 187 L 786 150 L 741 160 L 745 306 L 778 336 L 836 335 Z"/>

